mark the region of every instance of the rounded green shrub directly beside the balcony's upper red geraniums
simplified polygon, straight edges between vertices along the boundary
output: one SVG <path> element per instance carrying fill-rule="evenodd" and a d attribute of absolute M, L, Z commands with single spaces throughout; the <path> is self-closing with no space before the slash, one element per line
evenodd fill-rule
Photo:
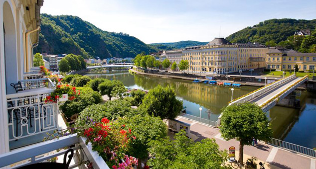
<path fill-rule="evenodd" d="M 77 87 L 80 90 L 80 95 L 74 100 L 65 101 L 59 108 L 65 114 L 66 117 L 70 118 L 76 113 L 80 113 L 87 106 L 92 104 L 98 104 L 102 101 L 101 94 L 93 91 L 89 87 Z"/>

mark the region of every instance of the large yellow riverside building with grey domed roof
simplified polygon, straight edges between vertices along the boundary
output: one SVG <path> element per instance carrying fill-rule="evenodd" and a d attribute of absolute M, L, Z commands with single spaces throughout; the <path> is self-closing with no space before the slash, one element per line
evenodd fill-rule
<path fill-rule="evenodd" d="M 189 71 L 195 73 L 226 74 L 266 66 L 268 48 L 257 44 L 232 44 L 215 38 L 205 46 L 186 47 L 182 59 L 189 61 Z"/>

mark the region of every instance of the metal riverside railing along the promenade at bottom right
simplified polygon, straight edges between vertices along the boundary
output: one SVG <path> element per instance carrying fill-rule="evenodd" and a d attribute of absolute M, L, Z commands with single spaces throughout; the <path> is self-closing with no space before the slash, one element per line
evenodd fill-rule
<path fill-rule="evenodd" d="M 312 158 L 316 158 L 316 150 L 307 148 L 307 147 L 303 147 L 303 146 L 299 146 L 293 143 L 289 143 L 289 142 L 285 142 L 282 140 L 278 140 L 275 138 L 272 138 L 270 141 L 268 141 L 268 144 L 273 145 L 273 146 L 277 146 L 286 150 L 290 150 L 296 153 L 300 153 Z"/>

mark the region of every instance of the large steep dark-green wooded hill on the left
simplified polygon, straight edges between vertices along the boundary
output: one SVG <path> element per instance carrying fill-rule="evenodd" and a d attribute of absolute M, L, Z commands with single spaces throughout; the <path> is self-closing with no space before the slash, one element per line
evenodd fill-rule
<path fill-rule="evenodd" d="M 135 57 L 142 51 L 156 52 L 136 37 L 103 31 L 77 16 L 41 14 L 39 44 L 34 52 L 76 54 L 88 57 Z"/>

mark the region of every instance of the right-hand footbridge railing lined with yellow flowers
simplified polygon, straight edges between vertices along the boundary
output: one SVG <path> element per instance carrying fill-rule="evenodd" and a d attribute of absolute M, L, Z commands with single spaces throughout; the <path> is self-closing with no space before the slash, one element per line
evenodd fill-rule
<path fill-rule="evenodd" d="M 307 76 L 303 77 L 302 79 L 300 79 L 299 81 L 297 81 L 296 83 L 291 84 L 286 89 L 284 89 L 281 92 L 279 92 L 278 94 L 274 95 L 271 99 L 269 99 L 266 102 L 262 103 L 260 105 L 260 107 L 262 107 L 262 110 L 266 111 L 265 109 L 267 107 L 274 106 L 275 104 L 277 104 L 277 102 L 279 100 L 282 100 L 284 97 L 286 97 L 292 91 L 294 91 L 298 86 L 300 86 L 301 84 L 306 82 L 308 80 L 308 78 L 309 78 L 309 76 L 307 75 Z"/>

